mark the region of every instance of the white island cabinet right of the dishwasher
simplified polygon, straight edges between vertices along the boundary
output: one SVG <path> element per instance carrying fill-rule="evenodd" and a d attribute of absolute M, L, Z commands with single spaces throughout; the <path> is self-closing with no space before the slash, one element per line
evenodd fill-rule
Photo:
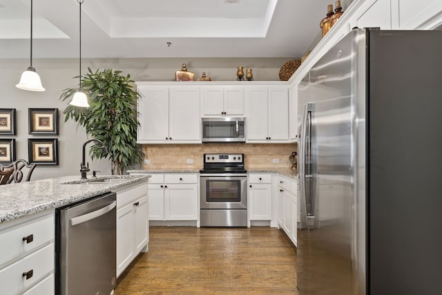
<path fill-rule="evenodd" d="M 148 184 L 117 191 L 117 276 L 148 247 Z"/>

